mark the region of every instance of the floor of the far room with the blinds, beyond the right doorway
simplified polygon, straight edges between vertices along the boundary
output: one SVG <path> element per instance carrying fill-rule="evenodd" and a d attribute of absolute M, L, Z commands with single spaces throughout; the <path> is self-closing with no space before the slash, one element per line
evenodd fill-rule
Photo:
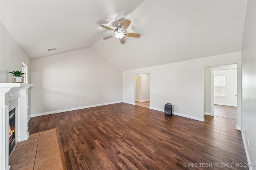
<path fill-rule="evenodd" d="M 237 117 L 236 115 L 237 115 L 236 107 L 214 104 L 214 116 L 236 120 L 236 117 Z"/>

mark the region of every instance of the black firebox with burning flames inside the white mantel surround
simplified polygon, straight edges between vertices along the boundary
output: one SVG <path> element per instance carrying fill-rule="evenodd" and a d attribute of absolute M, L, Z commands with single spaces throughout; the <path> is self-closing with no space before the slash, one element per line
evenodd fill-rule
<path fill-rule="evenodd" d="M 15 108 L 9 112 L 9 154 L 15 146 Z"/>

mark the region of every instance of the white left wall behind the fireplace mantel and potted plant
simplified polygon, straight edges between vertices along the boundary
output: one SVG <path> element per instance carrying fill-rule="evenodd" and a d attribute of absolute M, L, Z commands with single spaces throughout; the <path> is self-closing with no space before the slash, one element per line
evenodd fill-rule
<path fill-rule="evenodd" d="M 12 83 L 12 76 L 7 71 L 21 71 L 22 62 L 28 66 L 28 83 L 30 83 L 30 59 L 0 20 L 0 83 Z M 28 89 L 28 106 L 30 106 L 30 89 Z M 28 109 L 28 117 L 30 117 L 30 109 L 31 107 Z"/>

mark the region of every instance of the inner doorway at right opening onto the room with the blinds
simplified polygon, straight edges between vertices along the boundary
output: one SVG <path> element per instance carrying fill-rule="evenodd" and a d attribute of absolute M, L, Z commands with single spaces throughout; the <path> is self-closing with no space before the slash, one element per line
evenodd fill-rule
<path fill-rule="evenodd" d="M 214 70 L 214 116 L 237 119 L 237 68 Z"/>

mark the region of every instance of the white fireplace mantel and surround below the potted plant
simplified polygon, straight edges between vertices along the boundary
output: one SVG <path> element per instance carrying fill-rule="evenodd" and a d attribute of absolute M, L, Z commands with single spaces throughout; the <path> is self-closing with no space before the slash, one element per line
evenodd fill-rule
<path fill-rule="evenodd" d="M 35 84 L 0 83 L 0 169 L 8 170 L 9 166 L 9 107 L 16 107 L 16 140 L 28 139 L 28 91 Z M 16 142 L 17 142 L 16 141 Z"/>

